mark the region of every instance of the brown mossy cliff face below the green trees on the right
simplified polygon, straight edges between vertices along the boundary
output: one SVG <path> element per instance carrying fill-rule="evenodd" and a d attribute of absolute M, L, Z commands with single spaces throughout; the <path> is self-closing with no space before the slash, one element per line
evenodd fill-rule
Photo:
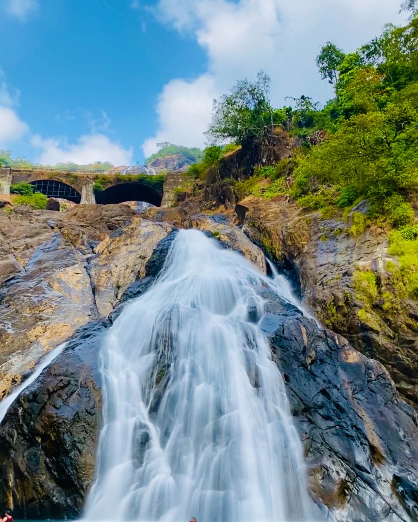
<path fill-rule="evenodd" d="M 244 232 L 278 260 L 323 324 L 384 364 L 398 391 L 416 408 L 418 303 L 397 295 L 396 276 L 386 268 L 388 262 L 397 263 L 388 254 L 387 234 L 367 229 L 353 238 L 350 217 L 345 223 L 323 219 L 318 212 L 306 215 L 285 197 L 244 201 Z M 354 210 L 365 208 L 362 203 Z M 372 306 L 359 298 L 355 288 L 355 274 L 364 271 L 376 277 L 379 298 Z M 385 303 L 385 293 L 394 296 L 393 309 L 389 301 Z"/>

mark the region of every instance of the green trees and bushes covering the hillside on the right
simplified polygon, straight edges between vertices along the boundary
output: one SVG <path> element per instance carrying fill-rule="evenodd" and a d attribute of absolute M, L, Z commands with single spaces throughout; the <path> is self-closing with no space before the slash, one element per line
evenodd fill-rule
<path fill-rule="evenodd" d="M 270 78 L 262 71 L 255 82 L 238 81 L 215 100 L 207 132 L 214 145 L 190 172 L 209 183 L 229 177 L 217 143 L 233 140 L 248 148 L 264 140 L 268 147 L 274 129 L 281 127 L 296 140 L 290 158 L 271 164 L 259 146 L 255 179 L 224 183 L 234 184 L 241 196 L 288 193 L 303 207 L 328 213 L 368 199 L 367 218 L 408 226 L 418 189 L 418 16 L 403 27 L 387 25 L 349 54 L 327 42 L 317 66 L 335 88 L 335 98 L 323 108 L 301 96 L 292 106 L 274 109 Z"/>

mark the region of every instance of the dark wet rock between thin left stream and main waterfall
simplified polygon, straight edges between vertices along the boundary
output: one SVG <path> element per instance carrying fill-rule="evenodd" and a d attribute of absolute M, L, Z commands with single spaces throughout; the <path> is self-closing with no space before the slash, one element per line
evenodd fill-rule
<path fill-rule="evenodd" d="M 3 420 L 0 504 L 17 518 L 81 514 L 100 429 L 103 330 L 98 324 L 80 331 Z"/>

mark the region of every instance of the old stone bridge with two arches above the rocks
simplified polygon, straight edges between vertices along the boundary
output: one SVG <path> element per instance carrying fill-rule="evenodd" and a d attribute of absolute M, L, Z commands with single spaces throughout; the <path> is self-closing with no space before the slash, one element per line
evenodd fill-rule
<path fill-rule="evenodd" d="M 149 180 L 148 180 L 149 178 Z M 103 172 L 71 172 L 47 168 L 0 168 L 0 195 L 10 194 L 10 185 L 30 183 L 35 192 L 47 197 L 63 198 L 93 205 L 146 201 L 157 207 L 170 207 L 175 202 L 175 189 L 183 183 L 181 172 L 168 172 L 161 183 L 155 176 L 104 174 Z"/>

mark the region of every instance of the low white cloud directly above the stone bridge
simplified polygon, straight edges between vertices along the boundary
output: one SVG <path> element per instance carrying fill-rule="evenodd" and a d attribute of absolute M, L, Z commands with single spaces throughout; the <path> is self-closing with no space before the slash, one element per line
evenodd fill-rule
<path fill-rule="evenodd" d="M 79 164 L 110 161 L 114 165 L 129 165 L 133 155 L 132 147 L 125 149 L 104 134 L 80 136 L 75 144 L 69 144 L 66 139 L 44 139 L 37 134 L 32 136 L 31 144 L 42 150 L 36 161 L 47 165 L 67 161 Z"/>

